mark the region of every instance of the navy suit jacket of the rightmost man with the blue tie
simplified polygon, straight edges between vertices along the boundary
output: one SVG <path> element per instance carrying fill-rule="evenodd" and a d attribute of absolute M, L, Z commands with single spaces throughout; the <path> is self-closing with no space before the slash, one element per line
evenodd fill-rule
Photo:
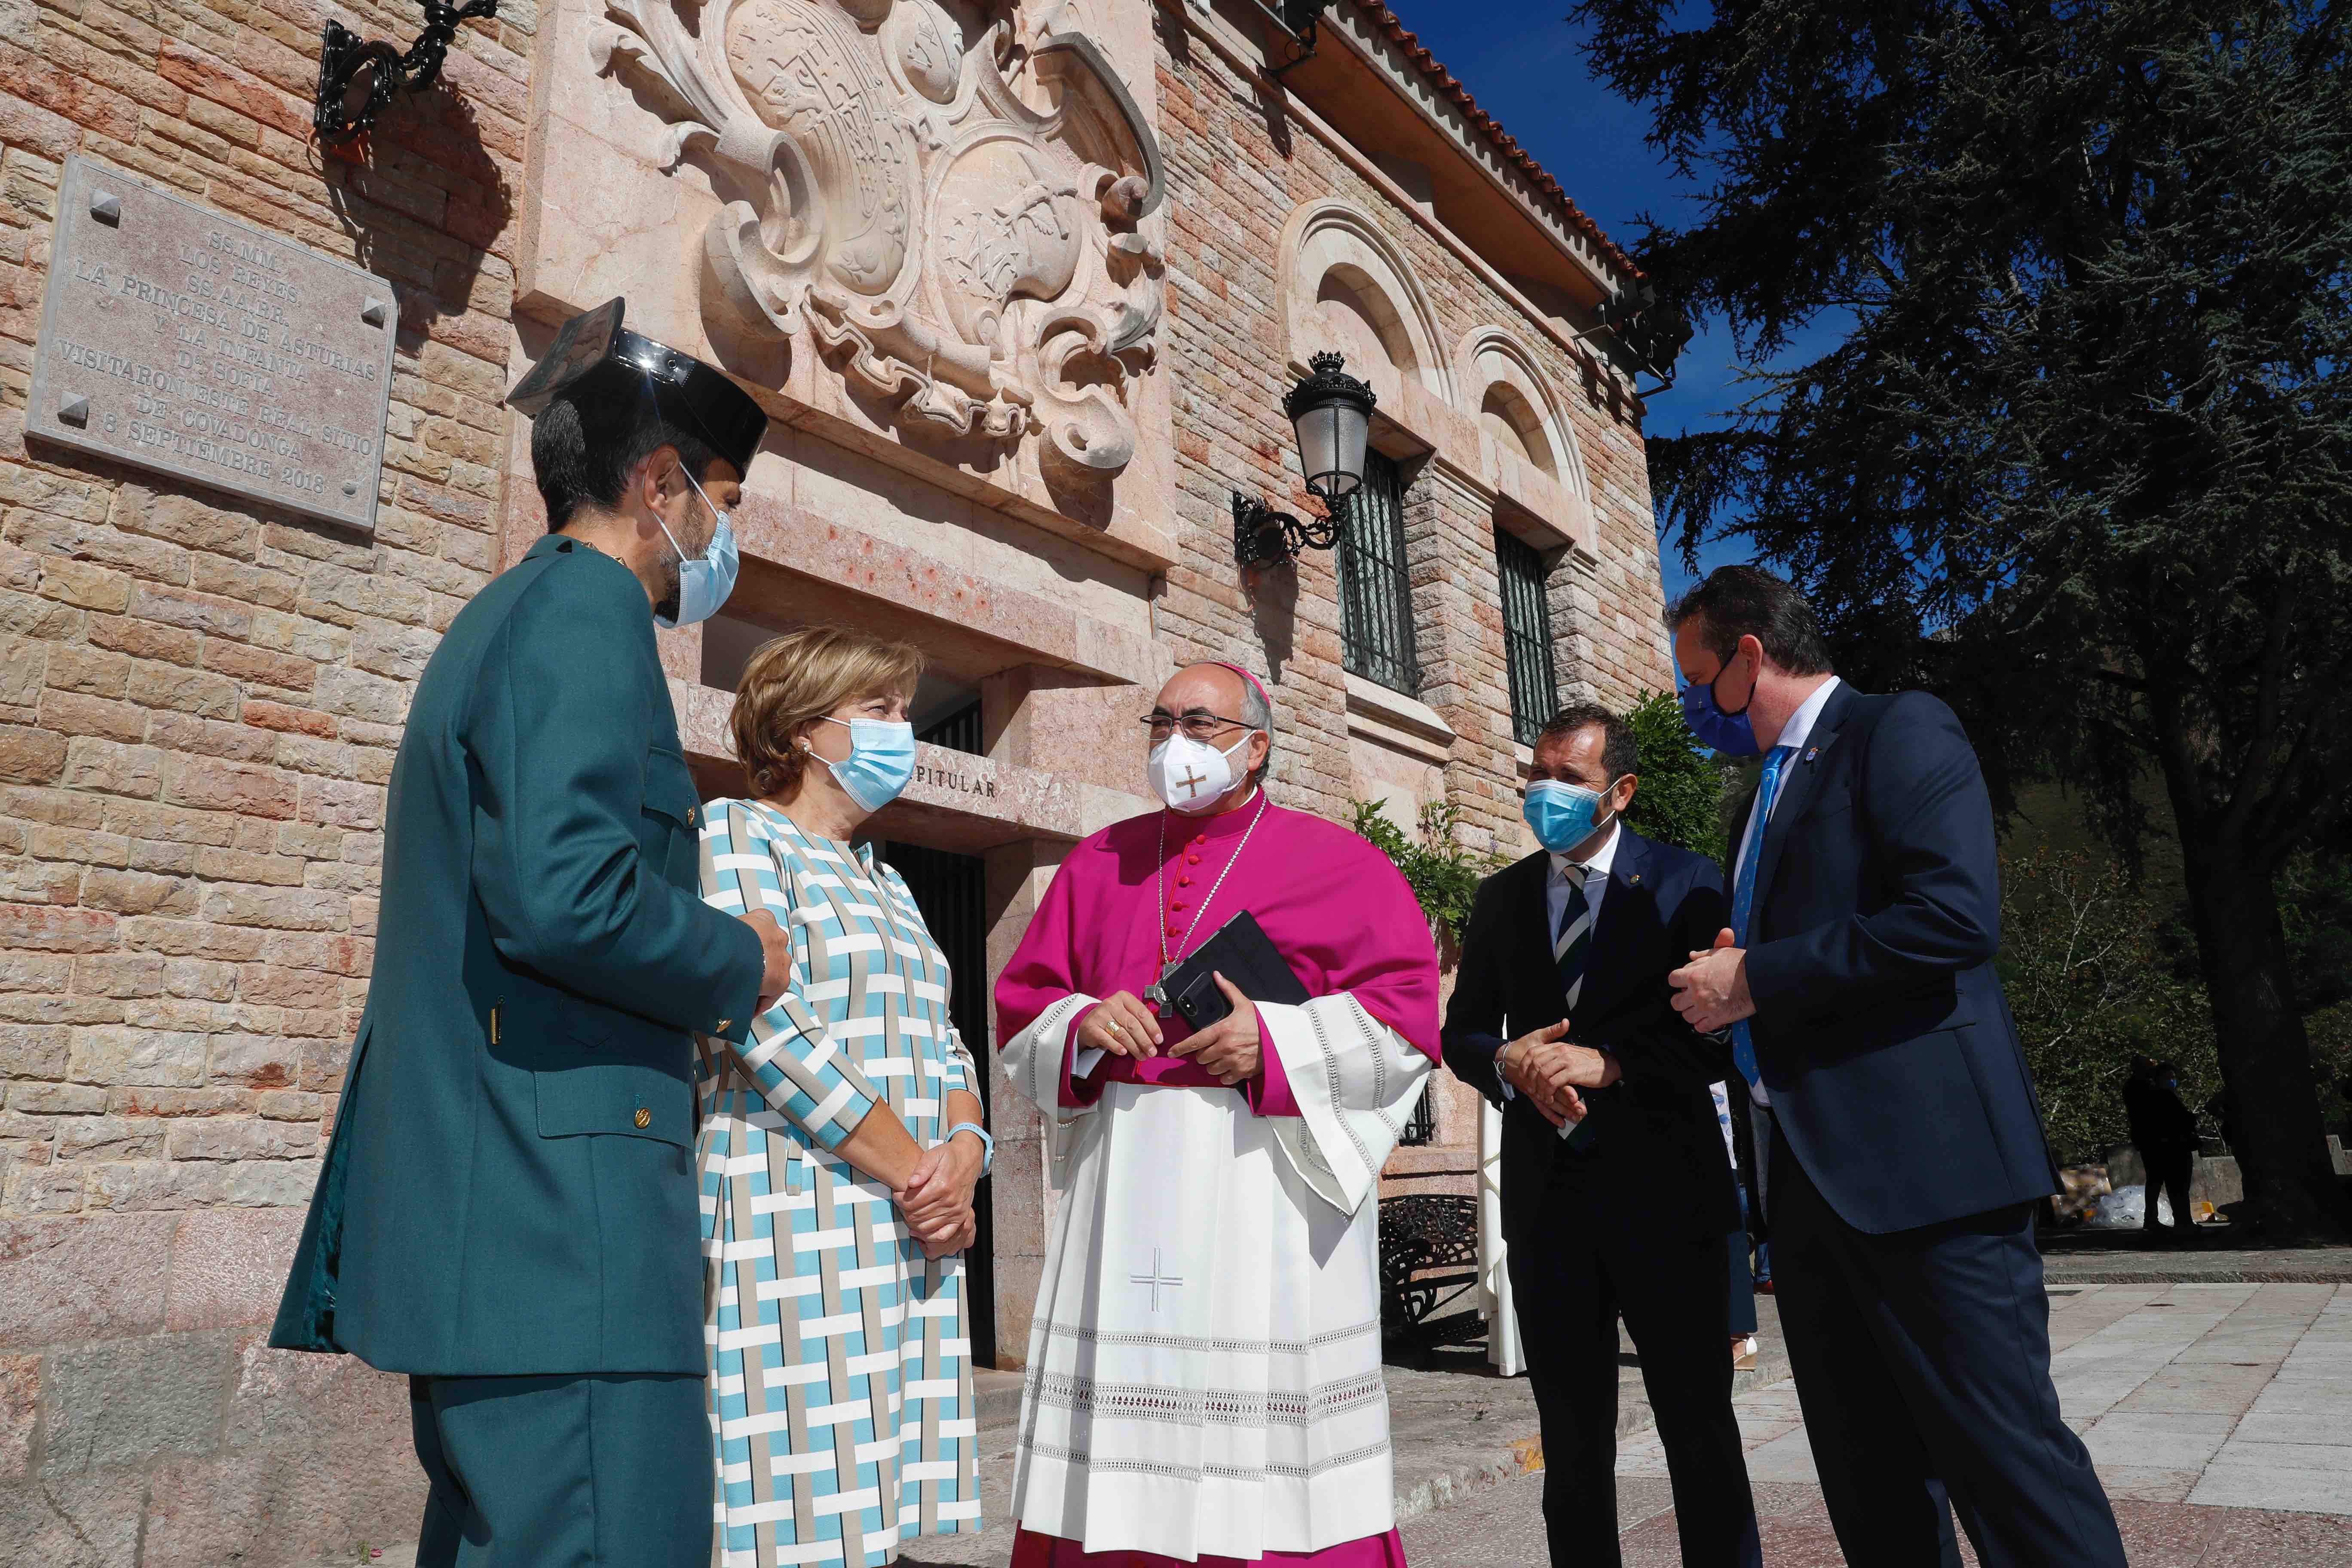
<path fill-rule="evenodd" d="M 1776 1128 L 1846 1225 L 2056 1192 L 1999 943 L 1992 799 L 1959 719 L 1924 691 L 1842 684 L 1764 825 L 1748 990 Z"/>

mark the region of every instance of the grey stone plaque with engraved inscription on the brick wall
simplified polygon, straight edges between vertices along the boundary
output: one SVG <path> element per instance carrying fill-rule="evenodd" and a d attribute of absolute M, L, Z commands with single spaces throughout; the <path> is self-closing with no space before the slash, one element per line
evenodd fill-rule
<path fill-rule="evenodd" d="M 369 529 L 397 315 L 374 273 L 73 155 L 26 433 Z"/>

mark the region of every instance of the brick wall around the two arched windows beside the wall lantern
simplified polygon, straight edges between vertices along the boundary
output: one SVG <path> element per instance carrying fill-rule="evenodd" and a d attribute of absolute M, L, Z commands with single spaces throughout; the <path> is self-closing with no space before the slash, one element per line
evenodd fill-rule
<path fill-rule="evenodd" d="M 1632 400 L 1588 374 L 1416 223 L 1357 167 L 1296 129 L 1228 59 L 1162 12 L 1160 146 L 1169 169 L 1169 376 L 1176 407 L 1178 531 L 1157 630 L 1178 658 L 1235 658 L 1272 670 L 1284 724 L 1275 769 L 1284 804 L 1343 816 L 1352 788 L 1334 557 L 1242 583 L 1232 564 L 1235 489 L 1312 512 L 1282 397 L 1284 214 L 1338 195 L 1374 214 L 1406 252 L 1451 348 L 1489 322 L 1519 327 L 1573 421 L 1597 517 L 1595 559 L 1566 555 L 1550 576 L 1562 696 L 1630 701 L 1672 684 L 1658 628 L 1658 545 Z M 1475 397 L 1475 393 L 1472 393 Z M 1475 414 L 1475 402 L 1472 402 Z M 1423 689 L 1456 731 L 1449 795 L 1475 849 L 1517 844 L 1517 764 L 1505 682 L 1494 505 L 1423 470 L 1406 496 L 1414 618 Z"/>

